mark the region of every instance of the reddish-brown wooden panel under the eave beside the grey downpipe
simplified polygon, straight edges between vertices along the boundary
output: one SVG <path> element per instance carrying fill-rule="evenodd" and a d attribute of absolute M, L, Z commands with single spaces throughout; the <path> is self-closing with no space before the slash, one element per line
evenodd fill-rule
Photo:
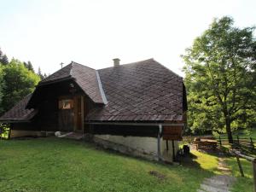
<path fill-rule="evenodd" d="M 163 139 L 182 141 L 183 126 L 164 126 L 163 127 Z"/>

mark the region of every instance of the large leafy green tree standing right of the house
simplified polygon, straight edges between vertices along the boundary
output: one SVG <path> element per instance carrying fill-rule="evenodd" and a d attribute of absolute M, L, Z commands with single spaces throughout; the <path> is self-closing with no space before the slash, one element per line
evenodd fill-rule
<path fill-rule="evenodd" d="M 233 23 L 230 17 L 213 20 L 182 55 L 189 125 L 201 131 L 225 128 L 229 143 L 232 130 L 247 125 L 256 114 L 254 28 L 240 29 Z"/>

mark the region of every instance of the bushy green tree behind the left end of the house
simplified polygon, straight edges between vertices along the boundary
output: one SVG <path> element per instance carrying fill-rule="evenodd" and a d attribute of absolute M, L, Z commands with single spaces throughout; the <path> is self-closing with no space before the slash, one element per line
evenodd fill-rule
<path fill-rule="evenodd" d="M 9 65 L 3 66 L 3 110 L 9 110 L 24 96 L 32 93 L 39 80 L 37 74 L 18 60 L 13 59 Z"/>

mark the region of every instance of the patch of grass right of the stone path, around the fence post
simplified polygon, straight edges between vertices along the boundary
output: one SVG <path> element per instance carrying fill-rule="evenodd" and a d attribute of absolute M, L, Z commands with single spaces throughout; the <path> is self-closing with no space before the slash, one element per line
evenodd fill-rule
<path fill-rule="evenodd" d="M 228 166 L 232 171 L 232 175 L 236 177 L 236 183 L 233 185 L 233 192 L 253 192 L 253 167 L 252 163 L 245 160 L 240 159 L 241 166 L 244 172 L 245 177 L 241 177 L 241 173 L 239 172 L 239 168 L 237 166 L 237 161 L 235 157 L 226 158 L 225 159 Z"/>

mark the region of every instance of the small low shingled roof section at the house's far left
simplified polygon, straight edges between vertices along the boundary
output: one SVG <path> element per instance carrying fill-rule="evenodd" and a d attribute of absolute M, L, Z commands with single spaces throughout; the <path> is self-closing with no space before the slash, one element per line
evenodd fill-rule
<path fill-rule="evenodd" d="M 11 108 L 7 113 L 0 117 L 0 121 L 29 121 L 38 112 L 34 109 L 26 109 L 26 104 L 30 100 L 32 94 L 25 96 L 18 102 L 14 108 Z"/>

